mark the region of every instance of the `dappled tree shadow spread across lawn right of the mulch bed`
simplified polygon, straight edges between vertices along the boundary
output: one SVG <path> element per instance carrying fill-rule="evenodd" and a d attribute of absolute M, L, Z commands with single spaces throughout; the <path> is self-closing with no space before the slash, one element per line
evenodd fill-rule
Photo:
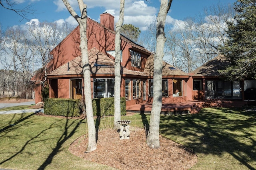
<path fill-rule="evenodd" d="M 199 114 L 161 117 L 160 131 L 168 137 L 181 137 L 196 153 L 221 155 L 228 152 L 248 169 L 256 161 L 256 113 L 222 109 L 222 113 L 202 110 Z M 229 113 L 225 113 L 225 112 Z M 248 160 L 250 159 L 250 160 Z"/>

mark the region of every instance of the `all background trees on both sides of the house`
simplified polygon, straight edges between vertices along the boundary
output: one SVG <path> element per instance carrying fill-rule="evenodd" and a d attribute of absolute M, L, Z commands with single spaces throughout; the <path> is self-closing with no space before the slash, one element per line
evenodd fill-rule
<path fill-rule="evenodd" d="M 240 0 L 238 2 L 240 3 Z M 251 0 L 245 2 L 255 3 Z M 184 21 L 167 21 L 164 60 L 185 72 L 191 72 L 216 57 L 220 53 L 220 47 L 230 40 L 228 29 L 237 22 L 235 16 L 239 11 L 238 8 L 234 9 L 232 5 L 218 4 L 209 6 L 194 18 L 187 18 Z M 251 12 L 247 16 L 253 19 L 253 14 L 254 12 Z M 239 19 L 238 16 L 236 19 Z M 72 29 L 74 27 L 68 23 L 59 25 L 38 21 L 10 27 L 5 31 L 0 29 L 0 69 L 4 73 L 1 74 L 0 79 L 0 95 L 6 95 L 6 92 L 9 92 L 12 96 L 22 94 L 23 97 L 32 97 L 30 78 L 35 70 L 46 66 L 51 59 L 50 50 Z M 143 31 L 131 24 L 124 24 L 121 33 L 153 53 L 156 52 L 156 20 L 147 23 L 146 30 Z M 252 74 L 253 68 L 251 68 Z M 230 68 L 230 70 L 234 69 Z M 230 75 L 230 72 L 226 75 Z M 18 80 L 19 78 L 22 78 L 22 81 Z M 30 92 L 23 93 L 28 89 Z"/>

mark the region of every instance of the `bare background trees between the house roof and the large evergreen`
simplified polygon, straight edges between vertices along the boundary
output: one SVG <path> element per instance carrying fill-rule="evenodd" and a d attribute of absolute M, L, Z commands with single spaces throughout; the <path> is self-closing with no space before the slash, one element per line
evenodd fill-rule
<path fill-rule="evenodd" d="M 194 18 L 184 21 L 167 21 L 164 60 L 191 72 L 220 54 L 227 41 L 228 22 L 234 21 L 234 7 L 209 6 Z M 156 51 L 156 20 L 147 23 L 140 42 L 148 50 Z"/>

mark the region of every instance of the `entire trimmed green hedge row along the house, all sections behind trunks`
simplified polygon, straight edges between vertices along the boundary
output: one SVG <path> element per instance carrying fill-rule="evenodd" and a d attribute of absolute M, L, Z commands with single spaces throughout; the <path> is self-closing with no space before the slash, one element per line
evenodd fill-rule
<path fill-rule="evenodd" d="M 44 101 L 44 113 L 58 116 L 80 116 L 81 104 L 78 99 L 49 98 Z M 92 100 L 94 116 L 114 115 L 114 98 Z M 121 98 L 121 115 L 126 115 L 126 101 Z"/>

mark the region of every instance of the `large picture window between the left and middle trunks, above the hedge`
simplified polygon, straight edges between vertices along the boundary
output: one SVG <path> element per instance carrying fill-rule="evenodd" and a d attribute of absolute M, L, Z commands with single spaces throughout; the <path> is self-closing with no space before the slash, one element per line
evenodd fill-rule
<path fill-rule="evenodd" d="M 94 78 L 93 96 L 94 98 L 114 97 L 114 78 Z"/>

